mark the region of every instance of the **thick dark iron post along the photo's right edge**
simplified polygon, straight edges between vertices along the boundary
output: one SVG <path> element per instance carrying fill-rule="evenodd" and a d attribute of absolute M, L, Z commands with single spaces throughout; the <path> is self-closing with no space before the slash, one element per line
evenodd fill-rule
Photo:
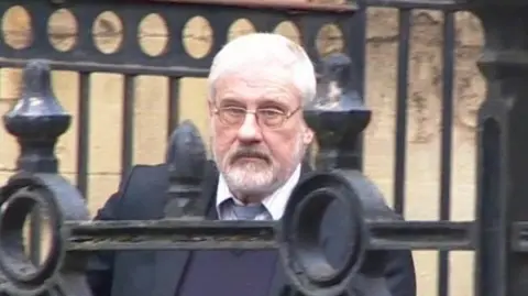
<path fill-rule="evenodd" d="M 486 98 L 479 110 L 475 295 L 526 296 L 528 255 L 513 250 L 512 226 L 528 221 L 528 3 L 476 1 Z"/>

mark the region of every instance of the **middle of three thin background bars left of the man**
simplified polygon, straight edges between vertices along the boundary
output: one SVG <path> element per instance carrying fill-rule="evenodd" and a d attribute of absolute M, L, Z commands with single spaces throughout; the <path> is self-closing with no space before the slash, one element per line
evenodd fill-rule
<path fill-rule="evenodd" d="M 134 145 L 134 101 L 135 101 L 135 76 L 124 75 L 123 79 L 123 127 L 122 127 L 122 154 L 121 154 L 121 178 L 132 167 Z"/>

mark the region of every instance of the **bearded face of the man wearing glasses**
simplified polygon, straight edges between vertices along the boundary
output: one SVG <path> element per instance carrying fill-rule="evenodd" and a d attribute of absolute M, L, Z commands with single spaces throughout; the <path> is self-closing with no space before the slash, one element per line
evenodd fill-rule
<path fill-rule="evenodd" d="M 280 68 L 217 80 L 209 106 L 213 156 L 233 194 L 271 194 L 302 160 L 312 133 L 302 119 L 300 92 L 290 81 Z"/>

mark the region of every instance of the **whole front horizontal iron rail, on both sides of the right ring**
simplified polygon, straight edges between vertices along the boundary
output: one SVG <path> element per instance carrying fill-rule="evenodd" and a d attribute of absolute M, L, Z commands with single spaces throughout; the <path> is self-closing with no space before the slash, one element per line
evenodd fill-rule
<path fill-rule="evenodd" d="M 277 248 L 279 222 L 167 219 L 70 221 L 65 227 L 69 251 L 249 250 Z M 473 222 L 367 221 L 367 228 L 371 250 L 473 250 L 476 239 Z"/>

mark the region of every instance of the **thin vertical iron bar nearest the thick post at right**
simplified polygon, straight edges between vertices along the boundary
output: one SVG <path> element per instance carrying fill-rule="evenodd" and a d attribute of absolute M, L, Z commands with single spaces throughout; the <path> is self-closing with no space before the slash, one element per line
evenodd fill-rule
<path fill-rule="evenodd" d="M 453 135 L 454 13 L 443 13 L 442 131 L 440 146 L 440 220 L 451 217 L 451 146 Z M 449 252 L 438 253 L 438 296 L 449 294 Z"/>

